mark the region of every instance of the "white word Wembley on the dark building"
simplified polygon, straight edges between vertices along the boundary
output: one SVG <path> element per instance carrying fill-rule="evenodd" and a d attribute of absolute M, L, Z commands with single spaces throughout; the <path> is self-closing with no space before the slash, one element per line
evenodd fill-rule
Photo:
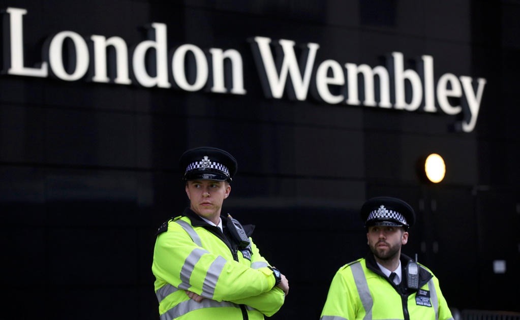
<path fill-rule="evenodd" d="M 262 76 L 262 85 L 266 97 L 280 99 L 285 89 L 289 99 L 305 100 L 310 71 L 314 69 L 319 45 L 307 44 L 307 49 L 304 50 L 300 64 L 298 64 L 294 52 L 295 44 L 292 41 L 272 42 L 270 38 L 255 37 L 250 42 L 258 72 Z M 271 46 L 277 52 L 276 63 Z M 418 71 L 405 69 L 404 57 L 401 52 L 392 52 L 386 61 L 387 69 L 383 66 L 376 66 L 372 69 L 366 64 L 346 63 L 347 84 L 345 84 L 343 68 L 341 68 L 339 62 L 334 60 L 321 62 L 316 68 L 316 75 L 314 76 L 314 88 L 316 88 L 315 91 L 318 96 L 316 98 L 331 104 L 344 102 L 359 105 L 361 101 L 358 94 L 360 89 L 364 88 L 365 99 L 362 104 L 365 106 L 379 106 L 380 108 L 392 108 L 393 106 L 394 109 L 398 110 L 417 111 L 423 105 L 423 111 L 437 112 L 434 94 L 433 57 L 422 56 L 421 61 L 418 62 L 422 69 Z M 277 65 L 281 68 L 277 68 Z M 301 70 L 303 70 L 303 75 Z M 331 76 L 329 76 L 329 71 Z M 363 78 L 361 86 L 358 86 L 358 75 L 362 75 Z M 289 77 L 291 81 L 288 81 Z M 379 82 L 379 92 L 375 90 L 375 79 Z M 439 78 L 437 101 L 440 109 L 447 114 L 463 112 L 464 119 L 456 124 L 456 129 L 471 132 L 475 128 L 485 84 L 486 79 L 478 78 L 475 87 L 473 78 L 469 76 L 457 77 L 449 73 Z M 339 91 L 346 91 L 348 97 L 345 99 L 343 94 L 334 95 L 330 90 L 333 86 L 346 86 L 340 88 Z M 376 102 L 374 98 L 376 93 L 379 94 L 379 102 Z M 462 105 L 451 105 L 448 97 L 460 98 Z"/>

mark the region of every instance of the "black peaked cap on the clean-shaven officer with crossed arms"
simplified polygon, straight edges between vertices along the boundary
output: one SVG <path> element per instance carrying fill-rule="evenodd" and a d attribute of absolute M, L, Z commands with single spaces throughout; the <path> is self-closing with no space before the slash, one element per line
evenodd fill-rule
<path fill-rule="evenodd" d="M 183 180 L 231 181 L 237 173 L 238 164 L 224 150 L 201 146 L 183 153 L 179 159 L 179 168 L 184 170 Z"/>

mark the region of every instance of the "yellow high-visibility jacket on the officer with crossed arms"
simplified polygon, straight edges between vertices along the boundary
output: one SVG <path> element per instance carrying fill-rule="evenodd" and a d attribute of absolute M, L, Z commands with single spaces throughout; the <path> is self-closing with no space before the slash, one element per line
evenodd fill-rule
<path fill-rule="evenodd" d="M 152 272 L 161 320 L 260 320 L 281 308 L 285 295 L 250 237 L 254 226 L 243 226 L 251 244 L 241 250 L 220 218 L 224 233 L 189 208 L 159 228 Z"/>

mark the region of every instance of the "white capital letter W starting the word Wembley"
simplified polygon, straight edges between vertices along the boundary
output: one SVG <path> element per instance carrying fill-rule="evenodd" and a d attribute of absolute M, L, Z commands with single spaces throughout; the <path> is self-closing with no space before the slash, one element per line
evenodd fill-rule
<path fill-rule="evenodd" d="M 309 88 L 310 76 L 316 58 L 316 51 L 320 47 L 316 43 L 308 43 L 307 48 L 301 56 L 301 65 L 305 64 L 305 71 L 302 77 L 300 65 L 296 62 L 296 54 L 294 53 L 294 41 L 280 39 L 275 44 L 277 59 L 272 56 L 269 44 L 270 38 L 254 37 L 257 47 L 252 42 L 253 55 L 256 61 L 258 72 L 261 74 L 262 87 L 264 95 L 267 98 L 280 99 L 283 96 L 285 83 L 288 81 L 287 75 L 290 75 L 289 82 L 292 87 L 287 85 L 289 99 L 305 100 Z M 278 73 L 278 70 L 280 73 Z"/>

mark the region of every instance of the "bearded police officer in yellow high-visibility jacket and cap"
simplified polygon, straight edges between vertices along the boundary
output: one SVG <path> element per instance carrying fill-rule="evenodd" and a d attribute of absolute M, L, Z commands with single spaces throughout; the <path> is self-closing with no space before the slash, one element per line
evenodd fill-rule
<path fill-rule="evenodd" d="M 361 207 L 370 253 L 344 265 L 332 279 L 321 320 L 453 319 L 438 279 L 401 254 L 415 213 L 392 197 L 369 199 Z"/>

